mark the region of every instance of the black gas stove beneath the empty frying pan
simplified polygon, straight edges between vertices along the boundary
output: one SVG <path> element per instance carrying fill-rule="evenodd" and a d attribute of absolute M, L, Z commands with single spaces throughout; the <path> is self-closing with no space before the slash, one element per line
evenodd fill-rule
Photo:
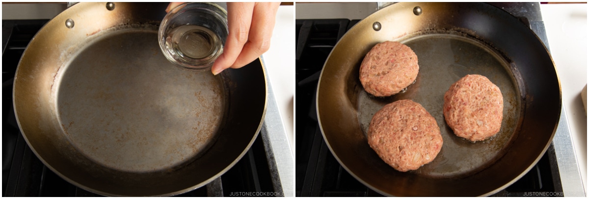
<path fill-rule="evenodd" d="M 47 168 L 31 151 L 16 124 L 12 85 L 27 44 L 48 20 L 2 20 L 2 196 L 100 196 L 76 187 Z M 263 132 L 236 165 L 206 186 L 180 197 L 274 193 Z"/>

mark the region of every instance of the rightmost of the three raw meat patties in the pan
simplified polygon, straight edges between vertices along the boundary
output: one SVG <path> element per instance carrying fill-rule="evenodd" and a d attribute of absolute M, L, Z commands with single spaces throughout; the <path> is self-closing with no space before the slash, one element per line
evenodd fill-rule
<path fill-rule="evenodd" d="M 446 91 L 444 118 L 458 137 L 485 140 L 501 128 L 503 95 L 487 77 L 466 75 Z"/>

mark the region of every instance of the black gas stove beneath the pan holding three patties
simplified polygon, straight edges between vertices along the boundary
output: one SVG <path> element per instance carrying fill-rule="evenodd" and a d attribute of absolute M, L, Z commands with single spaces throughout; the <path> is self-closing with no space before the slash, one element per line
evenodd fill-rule
<path fill-rule="evenodd" d="M 518 15 L 517 6 L 496 5 L 519 16 L 522 23 L 538 27 L 540 8 Z M 511 11 L 510 9 L 513 9 Z M 316 88 L 327 56 L 339 39 L 360 20 L 297 19 L 296 20 L 296 196 L 297 197 L 378 197 L 337 162 L 327 148 L 316 112 Z M 541 24 L 539 37 L 545 38 Z M 544 39 L 544 41 L 546 41 Z M 520 197 L 531 192 L 562 193 L 560 175 L 551 144 L 547 152 L 527 174 L 514 184 L 491 196 Z"/>

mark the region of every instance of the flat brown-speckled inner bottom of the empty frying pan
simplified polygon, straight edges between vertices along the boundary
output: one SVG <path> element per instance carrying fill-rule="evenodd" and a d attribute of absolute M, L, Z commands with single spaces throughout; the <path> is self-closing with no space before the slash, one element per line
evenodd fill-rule
<path fill-rule="evenodd" d="M 97 164 L 167 170 L 198 158 L 217 137 L 226 109 L 220 77 L 171 65 L 156 31 L 103 35 L 61 69 L 62 131 Z"/>

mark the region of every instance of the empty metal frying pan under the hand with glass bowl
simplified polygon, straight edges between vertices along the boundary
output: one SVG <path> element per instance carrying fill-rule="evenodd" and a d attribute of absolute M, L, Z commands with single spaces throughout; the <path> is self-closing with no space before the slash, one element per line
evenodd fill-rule
<path fill-rule="evenodd" d="M 266 111 L 261 62 L 193 72 L 161 54 L 167 3 L 80 3 L 29 43 L 14 82 L 22 135 L 47 167 L 102 195 L 175 195 L 243 157 Z"/>

